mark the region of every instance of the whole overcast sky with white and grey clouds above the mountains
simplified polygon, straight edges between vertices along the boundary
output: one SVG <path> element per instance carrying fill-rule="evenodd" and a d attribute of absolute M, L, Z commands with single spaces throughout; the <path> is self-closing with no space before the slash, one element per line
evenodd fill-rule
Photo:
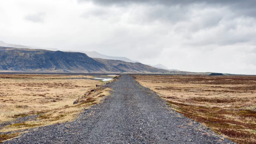
<path fill-rule="evenodd" d="M 255 0 L 0 0 L 0 41 L 256 75 Z"/>

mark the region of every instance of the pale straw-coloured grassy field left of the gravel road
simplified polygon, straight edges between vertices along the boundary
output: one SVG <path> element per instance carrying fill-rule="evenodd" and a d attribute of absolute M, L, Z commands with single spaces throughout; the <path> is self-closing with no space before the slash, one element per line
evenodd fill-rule
<path fill-rule="evenodd" d="M 110 89 L 96 88 L 101 81 L 92 76 L 74 75 L 0 75 L 0 132 L 72 121 L 85 108 L 100 103 Z M 88 93 L 89 92 L 89 93 Z M 73 105 L 76 99 L 81 99 Z M 38 117 L 22 123 L 1 124 L 24 116 Z M 14 135 L 14 134 L 12 134 Z M 12 138 L 0 134 L 0 137 Z M 2 140 L 1 139 L 1 140 Z M 1 141 L 0 140 L 0 141 Z"/>

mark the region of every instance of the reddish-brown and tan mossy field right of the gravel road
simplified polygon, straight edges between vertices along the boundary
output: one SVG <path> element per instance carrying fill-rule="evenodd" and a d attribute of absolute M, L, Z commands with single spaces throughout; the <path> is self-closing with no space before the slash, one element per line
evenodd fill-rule
<path fill-rule="evenodd" d="M 237 143 L 256 144 L 256 76 L 134 78 L 184 116 Z"/>

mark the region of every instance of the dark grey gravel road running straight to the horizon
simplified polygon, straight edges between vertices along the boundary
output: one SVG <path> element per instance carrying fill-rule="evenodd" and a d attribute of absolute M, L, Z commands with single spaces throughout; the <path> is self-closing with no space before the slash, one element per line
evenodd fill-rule
<path fill-rule="evenodd" d="M 112 94 L 75 121 L 31 129 L 4 143 L 233 143 L 173 111 L 132 76 L 107 86 Z"/>

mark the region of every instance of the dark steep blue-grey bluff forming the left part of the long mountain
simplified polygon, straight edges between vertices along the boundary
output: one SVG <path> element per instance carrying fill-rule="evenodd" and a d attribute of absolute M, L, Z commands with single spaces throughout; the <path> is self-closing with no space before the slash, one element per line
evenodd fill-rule
<path fill-rule="evenodd" d="M 80 52 L 0 47 L 0 69 L 92 73 L 105 72 L 105 65 Z"/>

